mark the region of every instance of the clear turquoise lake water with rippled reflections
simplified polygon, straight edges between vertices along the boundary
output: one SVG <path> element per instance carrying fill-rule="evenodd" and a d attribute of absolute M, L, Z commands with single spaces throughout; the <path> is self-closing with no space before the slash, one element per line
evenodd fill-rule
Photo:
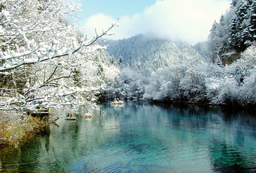
<path fill-rule="evenodd" d="M 247 112 L 128 101 L 93 114 L 72 122 L 57 112 L 58 126 L 0 150 L 0 169 L 256 172 L 256 118 Z"/>

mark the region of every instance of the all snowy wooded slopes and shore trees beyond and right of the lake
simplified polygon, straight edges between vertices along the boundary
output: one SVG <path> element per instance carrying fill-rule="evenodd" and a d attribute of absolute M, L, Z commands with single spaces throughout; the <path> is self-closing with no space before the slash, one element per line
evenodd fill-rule
<path fill-rule="evenodd" d="M 145 99 L 171 102 L 255 105 L 255 5 L 252 0 L 233 0 L 219 23 L 213 23 L 209 40 L 193 48 L 143 35 L 108 41 L 108 52 L 120 58 L 119 63 L 123 60 L 125 65 L 133 66 L 121 68 L 107 90 L 108 96 L 143 95 Z M 239 59 L 224 66 L 225 55 L 239 55 Z M 149 74 L 136 67 L 155 71 Z"/>

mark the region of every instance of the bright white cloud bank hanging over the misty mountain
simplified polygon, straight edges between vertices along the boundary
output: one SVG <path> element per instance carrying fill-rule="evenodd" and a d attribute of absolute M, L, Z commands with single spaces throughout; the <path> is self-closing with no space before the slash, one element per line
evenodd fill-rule
<path fill-rule="evenodd" d="M 155 33 L 159 37 L 179 38 L 189 43 L 205 41 L 214 20 L 219 20 L 231 2 L 228 0 L 163 0 L 156 1 L 143 13 L 124 16 L 111 39 L 123 39 L 138 33 Z M 107 29 L 116 19 L 93 15 L 85 22 L 85 32 Z"/>

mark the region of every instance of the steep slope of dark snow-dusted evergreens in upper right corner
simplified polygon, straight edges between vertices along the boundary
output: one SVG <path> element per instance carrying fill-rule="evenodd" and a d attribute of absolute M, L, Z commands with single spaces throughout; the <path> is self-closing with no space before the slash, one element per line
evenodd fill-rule
<path fill-rule="evenodd" d="M 231 8 L 215 21 L 209 35 L 213 56 L 241 53 L 256 41 L 256 1 L 233 0 Z"/>

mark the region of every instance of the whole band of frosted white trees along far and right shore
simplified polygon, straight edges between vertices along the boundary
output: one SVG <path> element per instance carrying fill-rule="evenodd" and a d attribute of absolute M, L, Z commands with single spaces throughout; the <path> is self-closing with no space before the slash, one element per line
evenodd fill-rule
<path fill-rule="evenodd" d="M 256 45 L 231 65 L 188 59 L 148 73 L 123 67 L 105 92 L 106 97 L 197 104 L 256 104 Z"/>

